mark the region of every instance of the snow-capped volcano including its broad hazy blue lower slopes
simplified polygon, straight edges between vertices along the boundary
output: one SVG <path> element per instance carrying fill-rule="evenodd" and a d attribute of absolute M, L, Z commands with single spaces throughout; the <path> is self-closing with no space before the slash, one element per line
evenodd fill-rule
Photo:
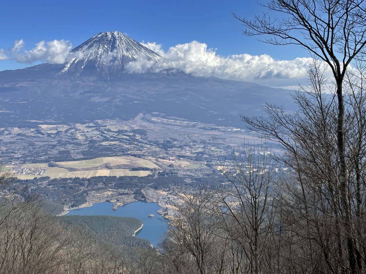
<path fill-rule="evenodd" d="M 265 102 L 294 108 L 290 91 L 279 88 L 179 71 L 127 73 L 131 61 L 164 59 L 117 31 L 95 35 L 70 56 L 65 64 L 0 72 L 1 127 L 128 120 L 144 112 L 243 127 L 239 115 L 263 114 Z"/>

